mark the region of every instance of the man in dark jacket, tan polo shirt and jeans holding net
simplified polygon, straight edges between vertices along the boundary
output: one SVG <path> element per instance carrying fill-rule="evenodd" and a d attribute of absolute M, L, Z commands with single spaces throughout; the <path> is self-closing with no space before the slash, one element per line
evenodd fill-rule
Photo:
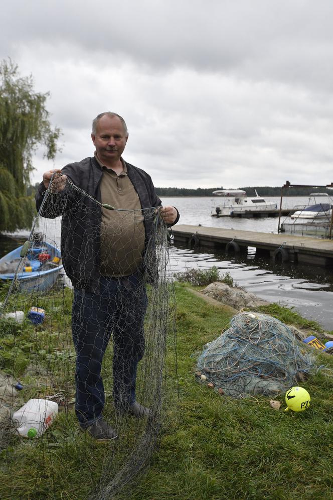
<path fill-rule="evenodd" d="M 152 231 L 152 218 L 142 214 L 144 209 L 161 207 L 161 201 L 149 175 L 121 156 L 128 139 L 121 116 L 99 114 L 93 120 L 91 138 L 94 157 L 45 172 L 36 205 L 39 210 L 56 174 L 41 215 L 63 215 L 61 254 L 74 287 L 75 411 L 80 426 L 104 441 L 117 437 L 102 418 L 100 373 L 111 333 L 114 405 L 120 413 L 152 416 L 135 399 L 135 381 L 144 352 L 144 255 Z M 108 210 L 95 200 L 123 211 Z M 179 219 L 172 206 L 160 208 L 160 216 L 170 226 Z"/>

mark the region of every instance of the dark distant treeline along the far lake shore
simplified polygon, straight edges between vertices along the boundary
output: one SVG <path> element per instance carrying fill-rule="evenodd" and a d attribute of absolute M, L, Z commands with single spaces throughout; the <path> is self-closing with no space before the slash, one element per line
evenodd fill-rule
<path fill-rule="evenodd" d="M 215 188 L 197 188 L 197 189 L 187 189 L 187 188 L 159 188 L 156 187 L 156 193 L 158 196 L 212 196 L 213 191 L 217 189 L 228 189 L 223 187 Z M 255 196 L 254 190 L 257 190 L 259 196 L 280 196 L 281 186 L 271 187 L 271 186 L 255 186 L 255 187 L 240 187 L 240 188 L 230 188 L 230 189 L 243 189 L 247 192 L 248 196 Z M 318 188 L 316 186 L 306 187 L 306 188 L 286 188 L 283 189 L 283 196 L 307 196 L 311 193 L 328 193 L 333 195 L 333 189 L 328 188 Z"/>

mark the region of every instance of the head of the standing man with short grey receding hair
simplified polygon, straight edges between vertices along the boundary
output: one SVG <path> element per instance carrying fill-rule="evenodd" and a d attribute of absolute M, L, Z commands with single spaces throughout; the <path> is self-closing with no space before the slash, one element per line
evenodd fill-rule
<path fill-rule="evenodd" d="M 96 127 L 96 135 L 91 134 L 98 158 L 106 165 L 119 160 L 125 149 L 127 137 L 118 116 L 102 116 Z"/>

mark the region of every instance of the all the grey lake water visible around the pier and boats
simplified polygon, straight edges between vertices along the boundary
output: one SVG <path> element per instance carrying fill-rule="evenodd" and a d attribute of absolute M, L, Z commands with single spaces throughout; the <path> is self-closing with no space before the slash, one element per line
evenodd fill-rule
<path fill-rule="evenodd" d="M 279 197 L 269 197 L 279 206 Z M 307 197 L 285 197 L 283 208 L 305 205 Z M 212 217 L 211 210 L 218 198 L 212 197 L 162 197 L 163 205 L 176 206 L 182 224 L 201 224 L 221 228 L 249 231 L 277 232 L 278 218 L 230 218 Z M 281 222 L 283 222 L 282 217 Z M 48 221 L 49 237 L 60 243 L 59 220 Z M 19 239 L 0 237 L 0 256 L 25 240 L 28 231 L 16 234 Z M 224 252 L 203 252 L 200 249 L 172 247 L 171 268 L 173 272 L 186 268 L 208 269 L 217 266 L 221 273 L 228 272 L 234 281 L 258 297 L 281 305 L 294 307 L 304 317 L 315 319 L 327 330 L 333 329 L 333 276 L 330 268 L 296 265 L 293 263 L 273 263 L 269 259 L 257 258 L 255 249 L 249 248 L 247 255 L 233 256 Z"/>

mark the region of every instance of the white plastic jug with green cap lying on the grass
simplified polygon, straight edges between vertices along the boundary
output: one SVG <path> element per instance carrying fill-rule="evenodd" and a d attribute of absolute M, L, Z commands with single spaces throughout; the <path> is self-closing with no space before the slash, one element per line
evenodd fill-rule
<path fill-rule="evenodd" d="M 52 425 L 58 414 L 58 404 L 47 399 L 30 399 L 13 414 L 16 432 L 23 437 L 40 437 Z"/>

